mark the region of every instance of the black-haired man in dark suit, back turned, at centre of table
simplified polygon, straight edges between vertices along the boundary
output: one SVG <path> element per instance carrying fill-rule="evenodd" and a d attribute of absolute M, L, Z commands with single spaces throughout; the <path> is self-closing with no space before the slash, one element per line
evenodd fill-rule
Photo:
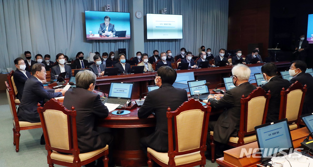
<path fill-rule="evenodd" d="M 172 111 L 175 111 L 179 105 L 188 100 L 185 90 L 172 86 L 176 77 L 177 73 L 174 69 L 168 66 L 160 67 L 155 79 L 156 86 L 160 88 L 148 92 L 144 103 L 138 110 L 139 119 L 147 118 L 152 113 L 156 116 L 156 130 L 140 140 L 144 151 L 147 151 L 147 147 L 159 152 L 168 151 L 167 108 L 170 107 Z"/>

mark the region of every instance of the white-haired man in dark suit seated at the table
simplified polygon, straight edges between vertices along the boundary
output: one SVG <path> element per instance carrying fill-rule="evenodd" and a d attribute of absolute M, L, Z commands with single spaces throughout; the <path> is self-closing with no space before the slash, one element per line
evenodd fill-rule
<path fill-rule="evenodd" d="M 254 85 L 248 82 L 251 70 L 246 65 L 234 66 L 231 73 L 235 88 L 226 91 L 224 95 L 219 95 L 221 97 L 219 100 L 214 99 L 213 95 L 208 95 L 208 102 L 211 103 L 212 110 L 224 109 L 217 121 L 209 122 L 208 128 L 209 131 L 214 131 L 214 141 L 217 143 L 217 147 L 220 147 L 220 149 L 215 149 L 217 157 L 223 154 L 223 146 L 228 143 L 229 137 L 238 135 L 242 95 L 246 97 L 256 89 Z M 208 143 L 210 141 L 209 134 Z"/>

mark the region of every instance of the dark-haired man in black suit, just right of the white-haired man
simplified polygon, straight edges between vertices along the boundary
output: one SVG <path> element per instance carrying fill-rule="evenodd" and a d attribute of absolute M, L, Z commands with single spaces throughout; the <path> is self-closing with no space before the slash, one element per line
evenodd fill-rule
<path fill-rule="evenodd" d="M 270 91 L 270 99 L 268 104 L 267 122 L 278 120 L 280 108 L 280 92 L 282 88 L 287 90 L 290 82 L 277 75 L 277 67 L 274 63 L 266 63 L 261 67 L 264 80 L 268 83 L 262 86 L 266 92 Z"/>

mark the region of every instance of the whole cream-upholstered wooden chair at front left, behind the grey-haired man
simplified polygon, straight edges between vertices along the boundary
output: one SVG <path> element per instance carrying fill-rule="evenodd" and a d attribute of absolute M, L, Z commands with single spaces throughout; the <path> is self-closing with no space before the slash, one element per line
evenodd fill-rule
<path fill-rule="evenodd" d="M 77 143 L 74 107 L 67 110 L 56 99 L 52 98 L 45 103 L 44 107 L 38 103 L 37 111 L 44 130 L 49 167 L 53 167 L 53 164 L 81 167 L 102 156 L 104 156 L 104 166 L 108 167 L 109 145 L 87 153 L 80 153 Z"/>

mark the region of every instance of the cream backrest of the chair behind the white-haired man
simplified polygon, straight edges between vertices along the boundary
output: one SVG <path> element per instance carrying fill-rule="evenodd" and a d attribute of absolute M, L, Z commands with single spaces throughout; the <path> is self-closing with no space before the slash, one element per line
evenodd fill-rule
<path fill-rule="evenodd" d="M 267 94 L 264 89 L 258 87 L 247 97 L 242 95 L 238 143 L 244 143 L 244 136 L 255 134 L 254 127 L 266 122 L 269 93 Z"/>

